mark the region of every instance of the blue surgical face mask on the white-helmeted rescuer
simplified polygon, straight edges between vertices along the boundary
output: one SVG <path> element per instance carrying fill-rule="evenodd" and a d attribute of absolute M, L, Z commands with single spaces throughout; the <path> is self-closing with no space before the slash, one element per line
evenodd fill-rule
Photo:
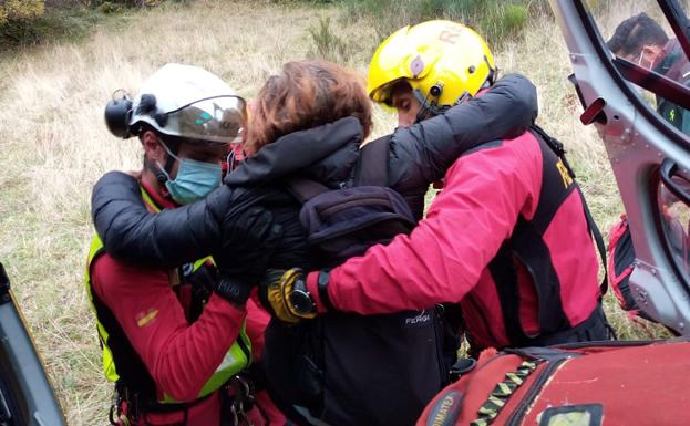
<path fill-rule="evenodd" d="M 165 187 L 176 202 L 181 205 L 192 204 L 206 197 L 208 193 L 220 186 L 220 176 L 223 174 L 220 164 L 179 158 L 163 142 L 161 142 L 161 145 L 169 156 L 179 162 L 175 179 L 171 179 L 165 168 L 158 164 L 161 172 L 167 176 Z"/>

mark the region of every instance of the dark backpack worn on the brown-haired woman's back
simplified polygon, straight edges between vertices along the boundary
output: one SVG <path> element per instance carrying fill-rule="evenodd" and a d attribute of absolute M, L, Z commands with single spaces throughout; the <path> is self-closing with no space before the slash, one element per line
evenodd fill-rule
<path fill-rule="evenodd" d="M 300 221 L 319 268 L 414 227 L 402 196 L 385 187 L 388 153 L 383 141 L 364 147 L 350 188 L 331 190 L 302 178 L 288 184 L 302 202 Z M 279 393 L 307 408 L 299 409 L 307 418 L 338 426 L 411 426 L 447 383 L 441 316 L 440 308 L 430 306 L 367 316 L 329 312 L 297 326 L 274 321 L 264 365 L 274 382 L 296 384 Z"/>

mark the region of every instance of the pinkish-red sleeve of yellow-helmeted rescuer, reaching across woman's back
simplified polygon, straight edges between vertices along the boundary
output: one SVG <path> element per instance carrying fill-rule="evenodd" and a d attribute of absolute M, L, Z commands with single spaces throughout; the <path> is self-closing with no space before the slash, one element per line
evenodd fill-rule
<path fill-rule="evenodd" d="M 511 236 L 518 215 L 534 214 L 540 179 L 542 155 L 531 135 L 457 159 L 410 236 L 374 246 L 330 272 L 331 303 L 372 314 L 460 302 Z"/>

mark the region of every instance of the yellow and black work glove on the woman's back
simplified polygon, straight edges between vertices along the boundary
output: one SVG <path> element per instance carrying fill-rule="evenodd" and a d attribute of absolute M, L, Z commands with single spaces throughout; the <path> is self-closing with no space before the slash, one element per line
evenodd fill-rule
<path fill-rule="evenodd" d="M 259 297 L 274 316 L 289 324 L 317 315 L 313 299 L 307 291 L 305 272 L 300 268 L 269 269 L 259 285 Z"/>

